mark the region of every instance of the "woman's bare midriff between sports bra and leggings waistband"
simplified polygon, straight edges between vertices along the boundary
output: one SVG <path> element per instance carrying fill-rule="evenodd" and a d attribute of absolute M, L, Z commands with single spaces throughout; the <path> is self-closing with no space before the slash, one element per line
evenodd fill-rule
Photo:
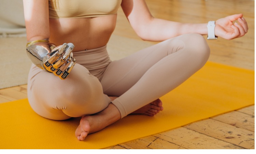
<path fill-rule="evenodd" d="M 117 15 L 93 18 L 49 19 L 50 42 L 56 45 L 73 43 L 73 52 L 106 45 L 116 25 Z"/>

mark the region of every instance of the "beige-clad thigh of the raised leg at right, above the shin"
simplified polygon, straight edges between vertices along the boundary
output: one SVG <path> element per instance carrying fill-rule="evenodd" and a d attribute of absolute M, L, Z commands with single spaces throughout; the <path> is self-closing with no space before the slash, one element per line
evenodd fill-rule
<path fill-rule="evenodd" d="M 183 46 L 183 41 L 178 38 L 169 39 L 111 62 L 101 79 L 104 93 L 109 96 L 122 95 L 155 63 Z"/>

